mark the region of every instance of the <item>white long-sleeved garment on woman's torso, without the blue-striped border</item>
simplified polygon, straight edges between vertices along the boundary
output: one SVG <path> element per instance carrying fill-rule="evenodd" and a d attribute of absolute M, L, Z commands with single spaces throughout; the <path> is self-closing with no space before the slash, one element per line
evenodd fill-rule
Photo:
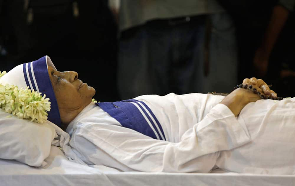
<path fill-rule="evenodd" d="M 122 127 L 100 107 L 90 104 L 66 130 L 80 160 L 122 171 L 209 172 L 221 151 L 250 141 L 245 123 L 218 104 L 222 96 L 171 93 L 135 99 L 150 107 L 167 141 Z"/>

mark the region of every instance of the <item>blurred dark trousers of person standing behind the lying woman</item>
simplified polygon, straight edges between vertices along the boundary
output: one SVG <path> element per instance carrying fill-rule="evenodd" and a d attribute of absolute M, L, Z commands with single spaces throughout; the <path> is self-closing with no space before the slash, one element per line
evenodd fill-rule
<path fill-rule="evenodd" d="M 170 92 L 230 92 L 237 73 L 234 33 L 227 32 L 231 25 L 219 28 L 224 17 L 214 16 L 196 16 L 189 22 L 176 19 L 176 24 L 154 20 L 122 32 L 118 58 L 121 99 Z M 206 41 L 210 43 L 209 75 L 204 74 L 207 18 L 213 23 Z"/>

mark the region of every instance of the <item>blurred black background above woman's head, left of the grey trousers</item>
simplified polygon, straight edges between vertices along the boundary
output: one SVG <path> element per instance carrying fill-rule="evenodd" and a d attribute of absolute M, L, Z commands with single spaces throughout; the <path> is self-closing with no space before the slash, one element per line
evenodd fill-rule
<path fill-rule="evenodd" d="M 118 99 L 117 25 L 107 0 L 1 0 L 1 10 L 2 69 L 48 55 L 59 71 L 77 71 L 96 100 Z"/>

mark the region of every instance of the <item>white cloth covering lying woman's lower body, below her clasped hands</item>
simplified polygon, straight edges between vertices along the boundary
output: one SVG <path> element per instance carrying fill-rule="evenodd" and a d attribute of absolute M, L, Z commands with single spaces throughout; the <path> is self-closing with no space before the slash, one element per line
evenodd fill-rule
<path fill-rule="evenodd" d="M 295 97 L 249 103 L 238 122 L 246 125 L 251 141 L 222 151 L 218 167 L 240 173 L 295 174 Z"/>

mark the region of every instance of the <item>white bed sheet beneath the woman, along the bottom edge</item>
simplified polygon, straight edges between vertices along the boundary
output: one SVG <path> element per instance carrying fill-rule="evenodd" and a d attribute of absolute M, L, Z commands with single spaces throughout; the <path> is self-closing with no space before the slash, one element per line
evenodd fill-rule
<path fill-rule="evenodd" d="M 105 166 L 89 167 L 69 161 L 52 146 L 43 168 L 30 167 L 14 160 L 0 159 L 0 185 L 294 185 L 295 175 L 214 173 L 120 172 Z"/>

